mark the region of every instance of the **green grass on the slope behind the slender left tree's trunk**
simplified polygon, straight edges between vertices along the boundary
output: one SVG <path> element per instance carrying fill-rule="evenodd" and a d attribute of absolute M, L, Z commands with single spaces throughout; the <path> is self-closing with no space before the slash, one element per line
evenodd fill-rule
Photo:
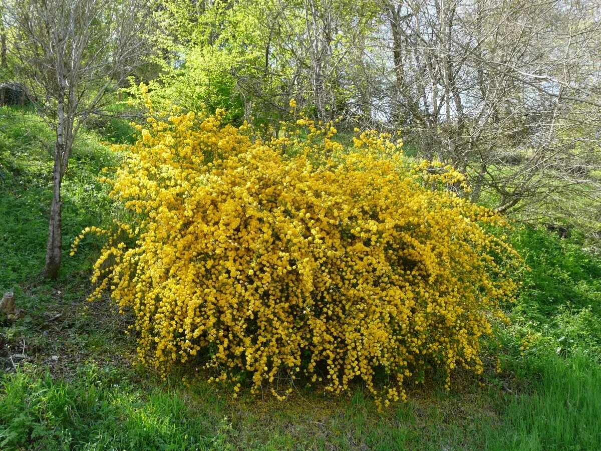
<path fill-rule="evenodd" d="M 0 289 L 31 281 L 43 266 L 47 238 L 47 212 L 52 186 L 52 134 L 34 114 L 0 108 L 0 236 L 2 266 Z M 82 133 L 73 149 L 63 182 L 64 237 L 68 248 L 88 224 L 102 224 L 111 215 L 99 171 L 115 161 L 113 153 L 92 133 Z M 83 255 L 83 254 L 82 254 Z M 89 256 L 88 256 L 89 257 Z M 63 281 L 82 269 L 82 258 L 64 259 Z M 69 277 L 70 278 L 70 277 Z"/>

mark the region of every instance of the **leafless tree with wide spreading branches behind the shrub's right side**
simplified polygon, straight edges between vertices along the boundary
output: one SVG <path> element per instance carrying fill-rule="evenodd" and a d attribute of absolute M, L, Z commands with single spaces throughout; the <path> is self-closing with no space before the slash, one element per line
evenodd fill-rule
<path fill-rule="evenodd" d="M 389 126 L 462 170 L 472 200 L 487 191 L 499 212 L 573 215 L 576 200 L 599 210 L 599 0 L 381 5 L 390 57 L 378 107 Z"/>

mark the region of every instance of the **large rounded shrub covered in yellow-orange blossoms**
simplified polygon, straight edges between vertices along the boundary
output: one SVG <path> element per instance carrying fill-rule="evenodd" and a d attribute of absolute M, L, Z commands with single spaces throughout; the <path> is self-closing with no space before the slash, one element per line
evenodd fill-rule
<path fill-rule="evenodd" d="M 432 189 L 459 174 L 407 169 L 376 132 L 344 150 L 333 124 L 302 117 L 261 139 L 222 117 L 150 118 L 107 180 L 137 220 L 124 241 L 102 232 L 93 297 L 133 312 L 144 363 L 164 373 L 201 354 L 212 379 L 254 391 L 362 379 L 386 403 L 428 367 L 447 386 L 456 366 L 481 372 L 516 254 L 486 231 L 501 218 Z"/>

